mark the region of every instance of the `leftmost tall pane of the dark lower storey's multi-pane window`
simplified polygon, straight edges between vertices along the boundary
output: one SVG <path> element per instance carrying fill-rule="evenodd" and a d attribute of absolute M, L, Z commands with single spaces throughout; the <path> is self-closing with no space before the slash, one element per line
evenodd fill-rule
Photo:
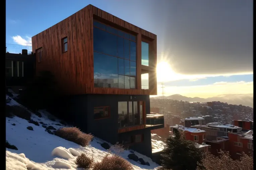
<path fill-rule="evenodd" d="M 128 126 L 127 101 L 118 102 L 118 124 L 119 127 Z"/>

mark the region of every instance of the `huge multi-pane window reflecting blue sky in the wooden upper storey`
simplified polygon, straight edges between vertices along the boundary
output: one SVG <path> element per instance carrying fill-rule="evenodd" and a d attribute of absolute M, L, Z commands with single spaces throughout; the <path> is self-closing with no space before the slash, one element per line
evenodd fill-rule
<path fill-rule="evenodd" d="M 136 88 L 136 37 L 93 21 L 94 87 Z"/>

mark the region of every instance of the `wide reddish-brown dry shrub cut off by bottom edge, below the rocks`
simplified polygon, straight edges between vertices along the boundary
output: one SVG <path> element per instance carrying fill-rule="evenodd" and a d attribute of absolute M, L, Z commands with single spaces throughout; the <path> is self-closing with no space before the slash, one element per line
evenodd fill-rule
<path fill-rule="evenodd" d="M 94 164 L 92 170 L 133 170 L 133 167 L 124 158 L 107 154 L 101 162 Z"/>

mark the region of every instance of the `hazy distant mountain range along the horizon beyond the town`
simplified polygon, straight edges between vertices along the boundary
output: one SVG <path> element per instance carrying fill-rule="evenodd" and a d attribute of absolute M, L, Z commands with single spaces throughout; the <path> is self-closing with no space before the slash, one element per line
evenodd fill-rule
<path fill-rule="evenodd" d="M 162 96 L 152 97 L 154 99 L 161 98 Z M 228 104 L 242 104 L 244 106 L 253 107 L 253 94 L 222 94 L 215 97 L 200 98 L 200 97 L 186 97 L 180 94 L 174 94 L 171 96 L 164 96 L 166 99 L 183 100 L 189 102 L 209 102 L 220 101 Z"/>

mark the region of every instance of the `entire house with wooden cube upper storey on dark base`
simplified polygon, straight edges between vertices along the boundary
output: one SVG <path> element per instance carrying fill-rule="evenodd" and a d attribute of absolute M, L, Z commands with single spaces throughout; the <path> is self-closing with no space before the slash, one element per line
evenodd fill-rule
<path fill-rule="evenodd" d="M 88 5 L 32 37 L 36 72 L 51 71 L 63 96 L 56 114 L 86 133 L 151 157 L 157 94 L 156 35 Z"/>

